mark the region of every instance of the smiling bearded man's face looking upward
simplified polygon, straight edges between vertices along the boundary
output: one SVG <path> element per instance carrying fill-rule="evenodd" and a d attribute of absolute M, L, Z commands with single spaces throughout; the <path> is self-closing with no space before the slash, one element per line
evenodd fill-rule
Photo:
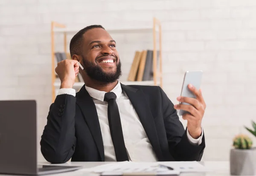
<path fill-rule="evenodd" d="M 121 62 L 116 42 L 102 28 L 84 33 L 82 63 L 90 78 L 102 83 L 116 81 L 121 75 Z"/>

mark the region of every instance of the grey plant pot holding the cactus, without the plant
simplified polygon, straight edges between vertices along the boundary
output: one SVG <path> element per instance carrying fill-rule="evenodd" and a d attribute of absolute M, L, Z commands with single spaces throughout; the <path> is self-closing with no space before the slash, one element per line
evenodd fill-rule
<path fill-rule="evenodd" d="M 230 150 L 231 175 L 256 175 L 256 148 Z"/>

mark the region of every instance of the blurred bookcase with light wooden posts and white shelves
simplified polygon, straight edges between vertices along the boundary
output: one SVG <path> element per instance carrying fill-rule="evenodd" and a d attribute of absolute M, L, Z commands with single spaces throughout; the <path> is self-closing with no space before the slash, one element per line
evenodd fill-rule
<path fill-rule="evenodd" d="M 63 35 L 63 50 L 67 53 L 67 35 L 75 35 L 79 29 L 69 28 L 64 24 L 52 21 L 51 23 L 51 56 L 52 56 L 52 102 L 54 102 L 56 93 L 60 87 L 60 82 L 56 81 L 55 73 L 55 35 Z M 129 28 L 115 28 L 106 30 L 110 33 L 138 33 L 138 32 L 152 32 L 153 34 L 153 81 L 120 81 L 126 85 L 159 85 L 163 86 L 162 78 L 162 29 L 161 23 L 156 18 L 153 18 L 152 26 L 139 26 Z M 159 37 L 159 49 L 157 49 L 157 35 Z M 159 68 L 157 68 L 157 50 L 159 51 Z M 84 82 L 75 82 L 73 88 L 79 89 L 84 85 Z"/>

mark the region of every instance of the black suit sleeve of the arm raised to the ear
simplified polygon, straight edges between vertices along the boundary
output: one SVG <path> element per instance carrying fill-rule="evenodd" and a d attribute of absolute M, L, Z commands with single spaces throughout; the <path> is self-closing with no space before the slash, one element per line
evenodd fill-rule
<path fill-rule="evenodd" d="M 41 153 L 51 163 L 65 163 L 73 156 L 75 137 L 76 97 L 58 95 L 49 109 L 47 124 L 41 136 Z"/>

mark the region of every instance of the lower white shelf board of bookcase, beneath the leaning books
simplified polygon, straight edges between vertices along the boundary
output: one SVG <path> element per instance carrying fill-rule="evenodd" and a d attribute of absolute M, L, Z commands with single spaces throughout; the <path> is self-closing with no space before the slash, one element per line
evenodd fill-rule
<path fill-rule="evenodd" d="M 154 86 L 154 81 L 120 81 L 120 83 L 125 85 L 142 85 L 142 86 Z M 84 82 L 75 82 L 73 88 L 81 88 L 84 85 Z M 157 82 L 157 85 L 160 85 L 160 81 Z M 55 82 L 54 87 L 60 87 L 61 82 Z"/>

